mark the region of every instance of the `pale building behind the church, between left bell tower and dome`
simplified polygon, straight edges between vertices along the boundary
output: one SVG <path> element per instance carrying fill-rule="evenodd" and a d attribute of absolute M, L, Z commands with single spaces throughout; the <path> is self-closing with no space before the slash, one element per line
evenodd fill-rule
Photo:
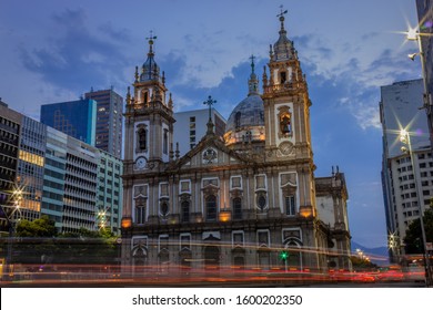
<path fill-rule="evenodd" d="M 173 141 L 179 144 L 180 156 L 183 156 L 205 136 L 209 108 L 178 112 L 174 118 Z M 215 134 L 223 136 L 225 118 L 215 108 L 211 108 L 211 118 L 215 124 Z"/>

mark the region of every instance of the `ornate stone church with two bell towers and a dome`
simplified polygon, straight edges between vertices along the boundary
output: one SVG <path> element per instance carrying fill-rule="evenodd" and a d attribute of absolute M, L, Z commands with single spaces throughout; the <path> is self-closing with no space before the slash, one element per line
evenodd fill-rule
<path fill-rule="evenodd" d="M 225 133 L 216 135 L 210 117 L 183 156 L 173 141 L 173 97 L 149 38 L 125 102 L 122 268 L 143 276 L 168 266 L 351 269 L 344 174 L 314 176 L 308 83 L 284 12 L 278 17 L 262 92 L 252 58 L 248 96 Z"/>

